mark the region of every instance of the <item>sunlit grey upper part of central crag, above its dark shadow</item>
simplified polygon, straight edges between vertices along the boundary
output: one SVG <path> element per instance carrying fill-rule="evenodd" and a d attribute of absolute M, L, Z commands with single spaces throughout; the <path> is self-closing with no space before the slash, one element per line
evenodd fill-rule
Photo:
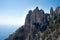
<path fill-rule="evenodd" d="M 44 18 L 44 10 L 39 10 L 38 7 L 36 7 L 33 11 L 30 10 L 26 16 L 25 24 L 31 25 L 34 22 L 41 23 Z"/>

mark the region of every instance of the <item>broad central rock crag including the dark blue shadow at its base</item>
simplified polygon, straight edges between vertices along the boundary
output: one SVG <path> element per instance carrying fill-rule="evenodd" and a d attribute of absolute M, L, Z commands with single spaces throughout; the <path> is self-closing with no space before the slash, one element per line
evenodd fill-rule
<path fill-rule="evenodd" d="M 40 31 L 46 30 L 47 28 L 48 18 L 45 15 L 44 11 L 41 9 L 39 10 L 38 7 L 33 11 L 29 11 L 25 20 L 25 26 L 28 25 L 30 27 L 36 26 L 37 28 L 41 29 Z M 43 30 L 42 30 L 43 28 Z"/>

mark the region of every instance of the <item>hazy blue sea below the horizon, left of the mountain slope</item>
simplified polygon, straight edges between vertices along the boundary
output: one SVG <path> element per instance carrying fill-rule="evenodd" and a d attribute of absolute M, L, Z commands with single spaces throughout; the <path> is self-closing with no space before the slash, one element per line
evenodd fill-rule
<path fill-rule="evenodd" d="M 0 25 L 0 40 L 5 40 L 14 33 L 20 26 L 16 25 Z"/>

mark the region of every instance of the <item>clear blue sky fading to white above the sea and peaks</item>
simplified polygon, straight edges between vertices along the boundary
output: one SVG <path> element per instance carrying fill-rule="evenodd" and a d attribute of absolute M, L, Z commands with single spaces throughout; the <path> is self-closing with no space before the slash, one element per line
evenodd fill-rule
<path fill-rule="evenodd" d="M 0 25 L 23 25 L 28 11 L 37 6 L 49 13 L 60 0 L 0 0 Z"/>

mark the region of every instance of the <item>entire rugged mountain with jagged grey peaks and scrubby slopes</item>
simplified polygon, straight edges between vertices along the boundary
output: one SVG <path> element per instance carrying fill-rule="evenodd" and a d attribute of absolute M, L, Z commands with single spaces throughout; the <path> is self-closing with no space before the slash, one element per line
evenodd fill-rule
<path fill-rule="evenodd" d="M 60 40 L 60 7 L 50 13 L 36 7 L 30 10 L 25 23 L 5 40 Z"/>

